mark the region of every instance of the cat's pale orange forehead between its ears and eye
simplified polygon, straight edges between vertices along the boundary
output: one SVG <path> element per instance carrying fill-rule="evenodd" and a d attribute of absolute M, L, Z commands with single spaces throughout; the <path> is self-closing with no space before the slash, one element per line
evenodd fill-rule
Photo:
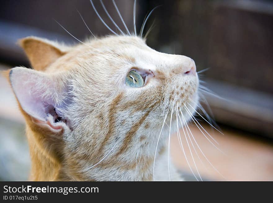
<path fill-rule="evenodd" d="M 47 72 L 66 71 L 74 68 L 94 69 L 101 65 L 135 60 L 137 50 L 150 49 L 145 40 L 137 36 L 108 36 L 93 38 L 70 46 L 68 52 L 47 68 Z"/>

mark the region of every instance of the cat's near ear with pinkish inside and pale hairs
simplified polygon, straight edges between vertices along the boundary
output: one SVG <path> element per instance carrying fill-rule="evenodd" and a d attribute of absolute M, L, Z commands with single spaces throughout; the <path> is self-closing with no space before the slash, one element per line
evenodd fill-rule
<path fill-rule="evenodd" d="M 70 97 L 61 78 L 16 67 L 10 70 L 9 79 L 27 121 L 53 133 L 69 127 L 63 112 Z"/>

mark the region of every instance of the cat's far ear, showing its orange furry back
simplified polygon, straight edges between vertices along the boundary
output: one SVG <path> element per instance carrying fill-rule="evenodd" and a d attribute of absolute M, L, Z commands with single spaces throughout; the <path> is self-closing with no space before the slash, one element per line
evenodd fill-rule
<path fill-rule="evenodd" d="M 24 49 L 32 67 L 39 71 L 43 71 L 67 51 L 64 46 L 56 42 L 37 37 L 23 38 L 18 42 Z"/>

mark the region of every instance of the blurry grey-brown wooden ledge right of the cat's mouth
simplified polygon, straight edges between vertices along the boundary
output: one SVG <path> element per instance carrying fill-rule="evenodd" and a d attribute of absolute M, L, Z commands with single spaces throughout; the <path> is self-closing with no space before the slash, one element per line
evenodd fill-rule
<path fill-rule="evenodd" d="M 201 91 L 218 122 L 273 139 L 272 94 L 216 80 L 204 86 L 218 96 Z M 202 105 L 210 112 L 204 100 Z"/>

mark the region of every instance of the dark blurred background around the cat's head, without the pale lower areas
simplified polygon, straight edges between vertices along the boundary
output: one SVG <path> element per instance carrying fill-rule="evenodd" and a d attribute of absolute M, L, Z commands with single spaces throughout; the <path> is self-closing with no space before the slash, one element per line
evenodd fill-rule
<path fill-rule="evenodd" d="M 103 2 L 125 31 L 112 1 Z M 129 30 L 133 31 L 133 0 L 116 0 L 116 3 Z M 94 0 L 94 5 L 105 22 L 116 30 L 100 2 Z M 202 85 L 224 98 L 205 94 L 217 123 L 272 144 L 273 2 L 137 0 L 138 32 L 145 15 L 159 5 L 145 27 L 144 33 L 153 25 L 147 44 L 158 51 L 193 58 L 197 71 L 209 68 L 200 73 L 200 79 L 205 82 Z M 2 0 L 0 63 L 5 64 L 2 69 L 30 67 L 22 49 L 16 45 L 19 38 L 38 36 L 78 43 L 55 20 L 80 40 L 91 37 L 78 12 L 95 35 L 110 34 L 89 0 Z M 206 106 L 205 101 L 203 104 Z M 14 119 L 7 110 L 2 112 L 6 112 L 2 113 L 4 120 Z"/>

